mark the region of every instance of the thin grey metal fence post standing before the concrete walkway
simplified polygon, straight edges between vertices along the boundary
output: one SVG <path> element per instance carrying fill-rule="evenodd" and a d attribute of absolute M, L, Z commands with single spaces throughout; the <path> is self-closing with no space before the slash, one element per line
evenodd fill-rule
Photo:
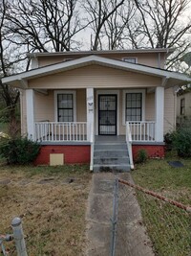
<path fill-rule="evenodd" d="M 110 256 L 115 256 L 117 236 L 117 211 L 118 211 L 118 178 L 114 183 L 113 216 L 112 216 L 112 239 Z"/>

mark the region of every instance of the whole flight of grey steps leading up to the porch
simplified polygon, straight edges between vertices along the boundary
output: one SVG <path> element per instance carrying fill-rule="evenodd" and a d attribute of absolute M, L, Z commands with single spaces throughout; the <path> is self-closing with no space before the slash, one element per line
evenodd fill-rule
<path fill-rule="evenodd" d="M 124 141 L 98 141 L 94 149 L 94 172 L 129 172 L 130 161 Z"/>

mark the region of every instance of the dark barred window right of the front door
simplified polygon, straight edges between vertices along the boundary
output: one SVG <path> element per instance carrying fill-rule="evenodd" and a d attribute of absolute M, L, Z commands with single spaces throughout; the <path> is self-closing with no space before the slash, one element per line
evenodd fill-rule
<path fill-rule="evenodd" d="M 126 93 L 125 120 L 141 121 L 142 120 L 142 94 Z"/>

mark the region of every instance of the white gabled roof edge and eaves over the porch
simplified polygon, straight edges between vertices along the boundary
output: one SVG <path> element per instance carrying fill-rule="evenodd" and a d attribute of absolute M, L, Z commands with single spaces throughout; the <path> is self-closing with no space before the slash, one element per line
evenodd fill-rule
<path fill-rule="evenodd" d="M 165 87 L 183 85 L 191 82 L 191 78 L 181 73 L 135 63 L 129 63 L 112 58 L 98 57 L 96 55 L 76 58 L 74 60 L 59 62 L 56 64 L 32 69 L 26 72 L 12 75 L 10 77 L 5 77 L 2 79 L 2 82 L 18 88 L 28 88 L 29 80 L 93 64 L 159 77 L 162 80 L 161 85 Z"/>

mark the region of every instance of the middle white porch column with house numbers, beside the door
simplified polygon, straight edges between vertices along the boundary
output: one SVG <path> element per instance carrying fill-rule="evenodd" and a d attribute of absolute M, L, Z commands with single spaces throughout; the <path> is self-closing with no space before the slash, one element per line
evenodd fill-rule
<path fill-rule="evenodd" d="M 94 88 L 86 88 L 86 105 L 87 105 L 87 136 L 88 141 L 91 141 L 91 138 L 94 136 L 94 126 L 95 126 L 95 118 L 94 118 Z M 93 133 L 93 134 L 92 134 Z"/>

